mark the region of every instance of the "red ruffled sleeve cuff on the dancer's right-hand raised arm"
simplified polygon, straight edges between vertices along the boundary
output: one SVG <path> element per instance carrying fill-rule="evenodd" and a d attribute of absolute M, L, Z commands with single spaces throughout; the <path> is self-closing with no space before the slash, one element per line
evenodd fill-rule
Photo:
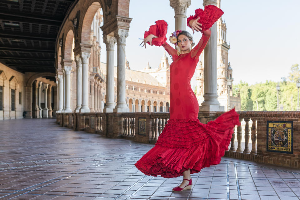
<path fill-rule="evenodd" d="M 195 15 L 187 18 L 187 26 L 190 27 L 189 22 L 192 19 L 199 17 L 198 22 L 202 24 L 202 31 L 212 27 L 212 25 L 224 14 L 224 12 L 214 5 L 205 6 L 204 10 L 201 8 L 195 10 Z M 190 27 L 192 28 L 192 27 Z"/>

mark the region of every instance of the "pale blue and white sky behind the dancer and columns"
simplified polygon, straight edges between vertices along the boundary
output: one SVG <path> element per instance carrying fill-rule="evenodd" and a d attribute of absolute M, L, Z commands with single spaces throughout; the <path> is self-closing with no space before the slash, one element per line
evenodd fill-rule
<path fill-rule="evenodd" d="M 192 0 L 187 16 L 203 8 L 202 0 Z M 233 84 L 240 81 L 250 85 L 266 80 L 279 82 L 287 77 L 290 67 L 300 64 L 300 0 L 221 0 L 222 20 L 227 26 L 227 44 L 230 43 L 228 61 L 233 70 Z M 167 38 L 175 30 L 174 9 L 169 0 L 130 0 L 129 35 L 126 56 L 133 70 L 142 70 L 149 62 L 157 68 L 163 56 L 163 47 L 140 47 L 144 32 L 155 21 L 168 23 Z M 192 33 L 192 29 L 186 28 Z M 193 35 L 197 43 L 200 32 Z M 167 42 L 169 42 L 167 40 Z M 106 47 L 101 43 L 101 61 L 106 63 Z M 169 57 L 169 63 L 172 59 Z M 117 65 L 117 45 L 114 52 Z M 195 76 L 191 85 L 195 85 Z"/>

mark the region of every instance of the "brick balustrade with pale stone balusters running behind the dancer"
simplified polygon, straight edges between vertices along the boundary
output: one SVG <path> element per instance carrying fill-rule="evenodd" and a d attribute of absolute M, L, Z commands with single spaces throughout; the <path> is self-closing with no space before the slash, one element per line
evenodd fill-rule
<path fill-rule="evenodd" d="M 300 148 L 297 146 L 297 134 L 300 133 L 298 131 L 300 130 L 300 112 L 238 113 L 241 125 L 235 127 L 225 156 L 300 168 L 300 158 L 298 158 Z M 202 123 L 207 123 L 221 114 L 222 112 L 199 113 L 198 119 Z M 143 143 L 155 143 L 168 120 L 169 113 L 57 113 L 57 123 L 62 126 Z M 293 122 L 294 153 L 267 151 L 267 121 Z"/>

